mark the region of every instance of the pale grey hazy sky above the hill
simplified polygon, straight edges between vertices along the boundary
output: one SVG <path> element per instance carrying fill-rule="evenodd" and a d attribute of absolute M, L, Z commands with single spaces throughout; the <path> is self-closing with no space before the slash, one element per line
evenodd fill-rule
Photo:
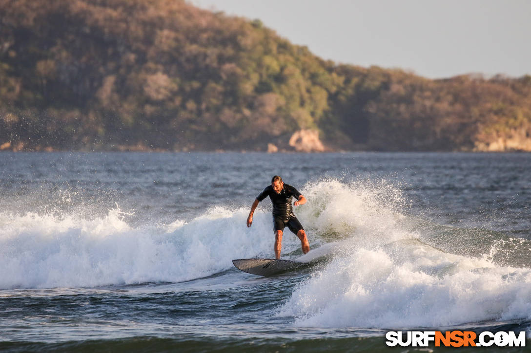
<path fill-rule="evenodd" d="M 336 63 L 429 78 L 531 74 L 531 0 L 189 0 Z"/>

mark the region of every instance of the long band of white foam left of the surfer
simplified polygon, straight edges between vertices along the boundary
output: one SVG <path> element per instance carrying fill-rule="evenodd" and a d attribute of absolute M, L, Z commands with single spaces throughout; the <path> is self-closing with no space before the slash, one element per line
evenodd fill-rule
<path fill-rule="evenodd" d="M 0 215 L 0 289 L 177 282 L 232 268 L 232 259 L 271 257 L 271 215 L 212 208 L 189 223 L 134 228 L 119 209 L 106 217 Z M 293 238 L 293 239 L 292 239 Z M 293 251 L 296 237 L 285 237 Z"/>

